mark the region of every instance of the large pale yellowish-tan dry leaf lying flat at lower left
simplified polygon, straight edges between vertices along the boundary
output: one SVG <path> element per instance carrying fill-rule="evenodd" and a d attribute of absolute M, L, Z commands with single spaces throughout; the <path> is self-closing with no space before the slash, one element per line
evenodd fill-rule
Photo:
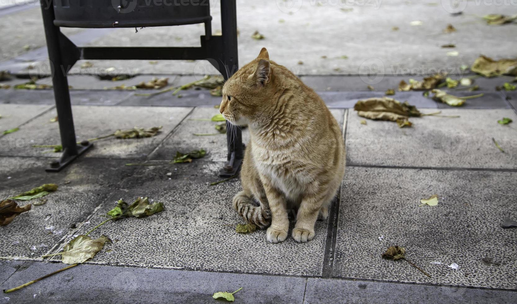
<path fill-rule="evenodd" d="M 92 239 L 86 235 L 79 235 L 72 239 L 64 248 L 61 255 L 65 264 L 84 263 L 95 256 L 104 246 L 105 242 L 112 242 L 107 236 L 102 235 Z"/>

